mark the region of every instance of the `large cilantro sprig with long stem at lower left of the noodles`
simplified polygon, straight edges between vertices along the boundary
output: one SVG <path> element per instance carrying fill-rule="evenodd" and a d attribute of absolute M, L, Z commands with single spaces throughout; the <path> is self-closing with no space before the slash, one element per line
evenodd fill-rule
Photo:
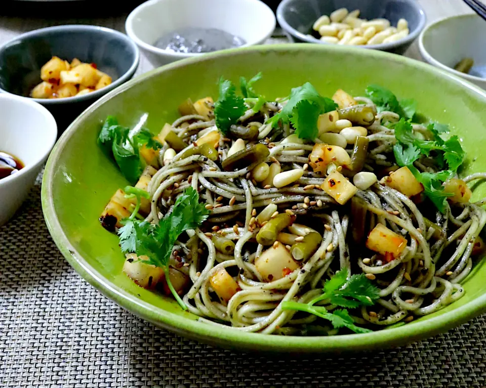
<path fill-rule="evenodd" d="M 136 195 L 137 201 L 140 201 L 141 193 L 133 190 L 128 192 Z M 186 230 L 197 228 L 208 215 L 209 210 L 199 202 L 197 191 L 189 187 L 177 198 L 172 211 L 167 213 L 158 225 L 136 220 L 131 216 L 123 221 L 124 226 L 118 230 L 120 247 L 124 253 L 146 255 L 148 261 L 144 261 L 145 264 L 164 269 L 167 285 L 184 310 L 187 310 L 187 306 L 175 291 L 169 277 L 169 258 L 179 236 Z"/>

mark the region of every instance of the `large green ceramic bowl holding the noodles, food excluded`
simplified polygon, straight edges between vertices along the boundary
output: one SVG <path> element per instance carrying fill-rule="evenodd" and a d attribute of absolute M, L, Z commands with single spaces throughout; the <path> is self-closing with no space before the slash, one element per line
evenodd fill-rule
<path fill-rule="evenodd" d="M 285 96 L 310 81 L 324 96 L 338 88 L 362 95 L 370 83 L 386 86 L 399 98 L 414 97 L 419 111 L 450 123 L 471 160 L 464 174 L 486 170 L 480 156 L 486 141 L 486 92 L 430 65 L 374 50 L 323 45 L 260 46 L 204 55 L 142 75 L 92 105 L 68 128 L 46 166 L 42 204 L 49 230 L 74 269 L 102 293 L 155 325 L 183 336 L 238 350 L 345 352 L 395 347 L 446 331 L 486 311 L 486 266 L 478 263 L 464 283 L 465 296 L 439 312 L 407 325 L 369 334 L 291 337 L 244 333 L 198 322 L 176 302 L 138 287 L 121 272 L 124 255 L 115 235 L 98 221 L 113 192 L 127 182 L 96 145 L 101 122 L 115 115 L 125 125 L 158 132 L 178 117 L 177 106 L 217 97 L 217 79 L 263 72 L 258 89 L 268 98 Z M 477 159 L 474 157 L 478 156 Z M 473 161 L 474 160 L 474 161 Z M 474 198 L 486 196 L 486 185 Z"/>

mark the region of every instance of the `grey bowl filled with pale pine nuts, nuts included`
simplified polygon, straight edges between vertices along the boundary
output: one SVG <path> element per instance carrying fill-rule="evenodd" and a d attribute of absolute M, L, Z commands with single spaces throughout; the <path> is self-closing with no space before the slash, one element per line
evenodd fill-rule
<path fill-rule="evenodd" d="M 277 20 L 297 42 L 403 54 L 426 17 L 415 0 L 284 0 Z"/>

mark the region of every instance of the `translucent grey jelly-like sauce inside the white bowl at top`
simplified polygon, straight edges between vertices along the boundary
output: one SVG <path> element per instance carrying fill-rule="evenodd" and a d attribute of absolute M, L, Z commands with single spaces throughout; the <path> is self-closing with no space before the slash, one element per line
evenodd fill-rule
<path fill-rule="evenodd" d="M 218 28 L 187 27 L 161 36 L 155 47 L 175 53 L 210 53 L 245 43 L 244 39 Z"/>

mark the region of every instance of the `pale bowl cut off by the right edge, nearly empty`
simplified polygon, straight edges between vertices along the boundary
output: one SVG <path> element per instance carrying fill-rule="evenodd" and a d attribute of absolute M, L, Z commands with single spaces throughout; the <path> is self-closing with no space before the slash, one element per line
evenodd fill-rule
<path fill-rule="evenodd" d="M 486 89 L 486 22 L 478 15 L 451 16 L 430 24 L 419 36 L 419 50 L 431 65 Z M 454 70 L 466 57 L 474 60 L 469 74 Z"/>

